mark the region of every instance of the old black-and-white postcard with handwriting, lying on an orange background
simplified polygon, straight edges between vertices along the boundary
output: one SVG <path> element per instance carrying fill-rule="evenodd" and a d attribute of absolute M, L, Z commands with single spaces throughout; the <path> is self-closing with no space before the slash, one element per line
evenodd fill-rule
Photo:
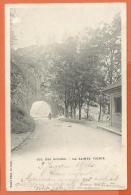
<path fill-rule="evenodd" d="M 127 189 L 126 4 L 5 5 L 7 191 Z"/>

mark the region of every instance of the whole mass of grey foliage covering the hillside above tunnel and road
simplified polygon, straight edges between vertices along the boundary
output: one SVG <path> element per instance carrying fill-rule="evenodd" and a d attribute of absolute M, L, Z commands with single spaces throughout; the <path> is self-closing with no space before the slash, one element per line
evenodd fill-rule
<path fill-rule="evenodd" d="M 41 94 L 51 104 L 54 115 L 64 112 L 66 117 L 76 118 L 78 109 L 79 119 L 82 108 L 88 118 L 90 105 L 99 104 L 101 115 L 101 107 L 109 104 L 100 98 L 101 90 L 121 77 L 120 16 L 111 24 L 85 29 L 83 34 L 47 48 L 17 49 L 12 64 L 20 73 L 13 72 L 14 99 L 29 105 Z"/>

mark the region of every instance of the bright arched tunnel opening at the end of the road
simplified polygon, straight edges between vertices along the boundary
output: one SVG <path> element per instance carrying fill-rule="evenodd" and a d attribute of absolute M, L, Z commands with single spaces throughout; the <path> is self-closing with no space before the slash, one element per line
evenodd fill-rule
<path fill-rule="evenodd" d="M 32 104 L 30 115 L 33 118 L 47 118 L 51 112 L 50 105 L 45 101 L 36 101 Z"/>

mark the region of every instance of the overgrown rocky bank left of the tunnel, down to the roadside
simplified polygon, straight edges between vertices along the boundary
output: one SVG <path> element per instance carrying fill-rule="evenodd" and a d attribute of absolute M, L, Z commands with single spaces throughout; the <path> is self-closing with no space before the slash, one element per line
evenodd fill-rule
<path fill-rule="evenodd" d="M 11 130 L 23 133 L 34 129 L 30 116 L 32 103 L 39 99 L 40 79 L 37 68 L 24 56 L 11 56 Z"/>

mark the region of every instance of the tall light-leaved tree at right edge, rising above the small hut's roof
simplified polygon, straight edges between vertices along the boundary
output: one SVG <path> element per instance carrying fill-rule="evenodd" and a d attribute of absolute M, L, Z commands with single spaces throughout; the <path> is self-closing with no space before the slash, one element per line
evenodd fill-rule
<path fill-rule="evenodd" d="M 111 24 L 104 24 L 95 37 L 101 63 L 105 70 L 105 82 L 112 84 L 121 77 L 121 18 L 116 15 Z"/>

